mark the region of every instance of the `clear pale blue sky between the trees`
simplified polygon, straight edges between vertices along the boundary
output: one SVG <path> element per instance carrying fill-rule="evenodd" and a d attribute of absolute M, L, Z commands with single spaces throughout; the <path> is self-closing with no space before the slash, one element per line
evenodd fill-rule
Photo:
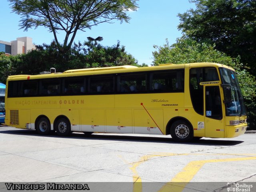
<path fill-rule="evenodd" d="M 184 13 L 195 5 L 189 0 L 140 0 L 138 10 L 130 11 L 129 23 L 114 21 L 114 23 L 103 23 L 93 26 L 86 32 L 79 31 L 74 42 L 84 42 L 87 37 L 97 38 L 102 36 L 100 42 L 103 46 L 116 45 L 118 40 L 120 45 L 125 46 L 126 52 L 132 54 L 138 64 L 152 64 L 155 51 L 153 45 L 163 46 L 166 38 L 170 44 L 182 36 L 177 26 L 180 23 L 178 13 Z M 13 13 L 10 9 L 10 2 L 1 0 L 0 7 L 1 29 L 0 40 L 10 42 L 17 37 L 31 37 L 33 43 L 40 45 L 50 44 L 54 40 L 53 33 L 48 32 L 47 28 L 40 26 L 28 31 L 19 29 L 20 16 Z M 58 34 L 59 42 L 64 41 L 64 33 Z"/>

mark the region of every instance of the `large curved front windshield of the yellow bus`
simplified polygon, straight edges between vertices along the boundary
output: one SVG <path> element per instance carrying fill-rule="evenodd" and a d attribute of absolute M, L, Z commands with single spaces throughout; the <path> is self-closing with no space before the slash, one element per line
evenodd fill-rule
<path fill-rule="evenodd" d="M 244 98 L 240 89 L 236 72 L 226 68 L 220 68 L 220 76 L 223 85 L 231 86 L 231 100 L 225 103 L 227 116 L 241 116 L 246 114 Z"/>

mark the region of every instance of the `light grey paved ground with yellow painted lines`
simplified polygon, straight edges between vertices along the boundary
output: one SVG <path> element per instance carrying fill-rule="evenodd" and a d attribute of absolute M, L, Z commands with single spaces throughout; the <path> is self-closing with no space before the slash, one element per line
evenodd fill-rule
<path fill-rule="evenodd" d="M 0 182 L 114 182 L 132 192 L 227 191 L 228 182 L 256 182 L 255 144 L 254 132 L 175 143 L 170 136 L 41 136 L 0 126 Z M 252 184 L 250 192 L 256 191 Z M 88 186 L 96 191 L 95 183 Z"/>

